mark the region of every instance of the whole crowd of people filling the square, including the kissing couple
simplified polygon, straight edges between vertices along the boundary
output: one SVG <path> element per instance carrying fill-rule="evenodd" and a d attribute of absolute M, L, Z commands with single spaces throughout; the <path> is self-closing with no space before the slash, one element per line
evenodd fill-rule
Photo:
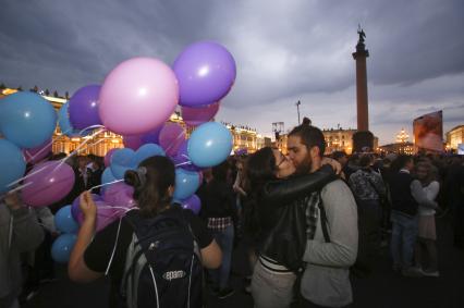
<path fill-rule="evenodd" d="M 148 158 L 124 177 L 134 187 L 137 209 L 96 234 L 96 205 L 87 189 L 99 185 L 102 159 L 77 157 L 74 189 L 64 200 L 34 210 L 21 202 L 21 193 L 1 201 L 0 307 L 19 307 L 17 298 L 27 299 L 41 281 L 53 279 L 52 215 L 78 196 L 84 220 L 69 276 L 89 282 L 109 275 L 109 307 L 154 304 L 144 300 L 156 300 L 157 307 L 200 307 L 205 291 L 219 300 L 232 296 L 237 243 L 246 247 L 253 272 L 244 278 L 244 291 L 255 307 L 266 308 L 350 307 L 355 300 L 351 278 L 373 274 L 386 247 L 399 275 L 439 276 L 436 215 L 452 215 L 454 245 L 464 249 L 463 157 L 368 151 L 325 157 L 325 150 L 322 132 L 304 123 L 289 133 L 285 155 L 265 147 L 203 170 L 198 215 L 173 205 L 171 160 Z M 169 238 L 178 246 L 163 247 L 159 238 L 168 233 L 175 234 Z M 166 251 L 162 260 L 157 251 Z M 170 269 L 164 281 L 157 280 L 157 264 L 166 256 L 183 260 L 188 273 Z M 152 283 L 155 288 L 143 287 Z"/>

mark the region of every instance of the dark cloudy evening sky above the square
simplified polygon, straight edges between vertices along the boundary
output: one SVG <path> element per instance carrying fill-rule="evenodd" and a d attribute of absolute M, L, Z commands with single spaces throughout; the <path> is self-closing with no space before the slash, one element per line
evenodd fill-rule
<path fill-rule="evenodd" d="M 272 122 L 296 124 L 300 99 L 315 125 L 355 127 L 359 23 L 380 144 L 435 110 L 444 131 L 464 124 L 462 0 L 1 0 L 0 83 L 73 94 L 129 58 L 172 64 L 190 44 L 216 40 L 237 64 L 218 120 L 270 135 Z"/>

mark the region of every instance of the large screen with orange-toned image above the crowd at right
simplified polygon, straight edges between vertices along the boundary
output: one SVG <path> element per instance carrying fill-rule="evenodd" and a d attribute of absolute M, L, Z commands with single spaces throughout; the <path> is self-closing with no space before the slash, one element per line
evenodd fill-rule
<path fill-rule="evenodd" d="M 413 130 L 417 151 L 443 151 L 443 111 L 414 119 Z"/>

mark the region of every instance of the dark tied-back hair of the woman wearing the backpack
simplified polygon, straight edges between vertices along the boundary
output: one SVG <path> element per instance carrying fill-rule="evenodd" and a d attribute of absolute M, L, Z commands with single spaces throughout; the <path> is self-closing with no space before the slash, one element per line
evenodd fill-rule
<path fill-rule="evenodd" d="M 175 184 L 174 163 L 162 156 L 147 158 L 136 171 L 125 172 L 124 182 L 134 187 L 134 199 L 142 214 L 157 215 L 171 204 L 168 188 Z"/>

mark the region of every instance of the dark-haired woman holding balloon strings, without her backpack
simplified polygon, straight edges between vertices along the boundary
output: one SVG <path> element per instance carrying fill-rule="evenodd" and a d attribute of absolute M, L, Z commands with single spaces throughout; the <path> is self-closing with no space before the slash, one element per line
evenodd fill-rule
<path fill-rule="evenodd" d="M 136 214 L 145 220 L 180 213 L 187 221 L 199 246 L 203 266 L 210 269 L 220 266 L 221 250 L 203 222 L 192 211 L 171 206 L 175 172 L 170 159 L 156 156 L 144 160 L 137 171 L 125 173 L 125 182 L 134 187 L 137 202 L 137 208 L 129 213 L 138 211 Z M 95 234 L 97 207 L 89 192 L 81 197 L 81 210 L 84 220 L 68 266 L 70 278 L 77 282 L 90 282 L 108 273 L 112 286 L 109 307 L 119 307 L 126 254 L 133 242 L 133 225 L 125 217 Z"/>

